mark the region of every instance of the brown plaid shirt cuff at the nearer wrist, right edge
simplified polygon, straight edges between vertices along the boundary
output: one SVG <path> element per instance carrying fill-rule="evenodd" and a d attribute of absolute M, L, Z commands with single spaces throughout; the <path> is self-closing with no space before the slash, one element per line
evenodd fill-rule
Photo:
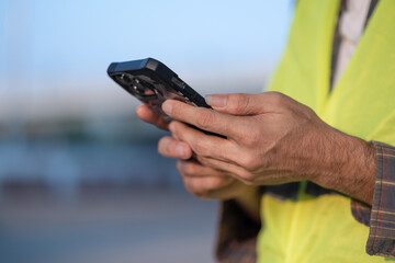
<path fill-rule="evenodd" d="M 372 207 L 351 202 L 353 217 L 370 227 L 366 252 L 395 258 L 395 147 L 372 141 L 376 171 Z"/>

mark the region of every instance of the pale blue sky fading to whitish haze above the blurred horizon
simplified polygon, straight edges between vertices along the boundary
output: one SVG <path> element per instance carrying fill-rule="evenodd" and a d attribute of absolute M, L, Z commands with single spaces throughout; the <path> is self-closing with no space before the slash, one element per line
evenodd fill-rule
<path fill-rule="evenodd" d="M 0 90 L 108 89 L 111 61 L 145 57 L 187 82 L 262 79 L 292 10 L 292 0 L 0 0 Z"/>

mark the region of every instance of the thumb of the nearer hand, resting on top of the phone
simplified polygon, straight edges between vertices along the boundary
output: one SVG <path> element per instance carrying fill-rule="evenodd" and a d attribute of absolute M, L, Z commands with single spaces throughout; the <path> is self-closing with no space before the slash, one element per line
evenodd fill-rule
<path fill-rule="evenodd" d="M 206 103 L 214 110 L 233 115 L 257 115 L 267 112 L 264 93 L 206 95 Z"/>

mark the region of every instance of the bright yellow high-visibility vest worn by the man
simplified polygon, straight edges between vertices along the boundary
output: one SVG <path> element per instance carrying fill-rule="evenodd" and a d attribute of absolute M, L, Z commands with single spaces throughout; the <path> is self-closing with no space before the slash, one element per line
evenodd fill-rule
<path fill-rule="evenodd" d="M 339 0 L 298 0 L 284 56 L 269 90 L 312 107 L 335 128 L 395 145 L 395 0 L 380 0 L 332 92 L 331 49 Z M 351 215 L 350 198 L 301 194 L 262 196 L 258 262 L 386 262 L 365 252 L 369 227 Z"/>

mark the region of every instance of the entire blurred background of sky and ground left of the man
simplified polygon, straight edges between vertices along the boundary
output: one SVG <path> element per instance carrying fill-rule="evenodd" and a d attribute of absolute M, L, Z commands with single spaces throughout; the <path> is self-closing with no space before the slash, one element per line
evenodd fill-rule
<path fill-rule="evenodd" d="M 257 93 L 293 8 L 0 0 L 0 262 L 214 262 L 218 204 L 185 193 L 106 68 L 154 57 L 201 94 Z"/>

